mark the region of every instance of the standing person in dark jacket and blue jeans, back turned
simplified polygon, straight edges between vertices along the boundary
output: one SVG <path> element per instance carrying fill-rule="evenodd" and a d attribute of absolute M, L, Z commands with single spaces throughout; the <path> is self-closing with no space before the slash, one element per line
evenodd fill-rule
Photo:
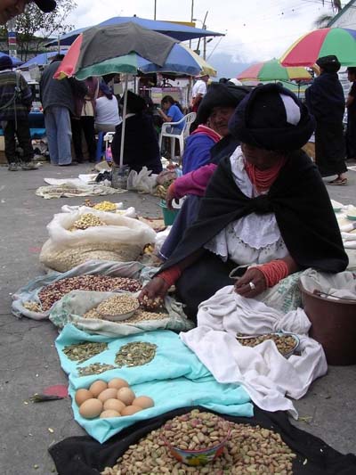
<path fill-rule="evenodd" d="M 70 114 L 74 113 L 72 86 L 68 78 L 53 79 L 63 58 L 63 54 L 56 54 L 39 82 L 50 159 L 53 165 L 60 167 L 77 165 L 77 162 L 72 161 L 70 145 Z"/>

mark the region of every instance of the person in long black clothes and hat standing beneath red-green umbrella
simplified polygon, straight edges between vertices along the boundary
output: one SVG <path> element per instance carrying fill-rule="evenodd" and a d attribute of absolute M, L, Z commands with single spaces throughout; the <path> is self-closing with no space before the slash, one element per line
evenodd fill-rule
<path fill-rule="evenodd" d="M 344 90 L 337 76 L 340 62 L 335 55 L 317 61 L 320 76 L 305 91 L 309 111 L 316 120 L 315 161 L 321 176 L 337 175 L 328 184 L 347 184 L 344 163 Z"/>

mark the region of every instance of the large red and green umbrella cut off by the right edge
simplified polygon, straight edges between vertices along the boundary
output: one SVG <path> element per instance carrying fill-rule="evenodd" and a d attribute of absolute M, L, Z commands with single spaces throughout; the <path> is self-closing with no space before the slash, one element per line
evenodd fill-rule
<path fill-rule="evenodd" d="M 335 54 L 343 66 L 356 66 L 356 30 L 314 29 L 291 45 L 280 58 L 283 66 L 310 66 L 322 56 Z"/>

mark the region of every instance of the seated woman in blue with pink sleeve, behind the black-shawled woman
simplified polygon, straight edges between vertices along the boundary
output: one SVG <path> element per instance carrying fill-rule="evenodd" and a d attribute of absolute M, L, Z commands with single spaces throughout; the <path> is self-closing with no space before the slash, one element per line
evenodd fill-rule
<path fill-rule="evenodd" d="M 181 241 L 185 229 L 198 216 L 201 197 L 205 193 L 206 184 L 214 172 L 220 159 L 231 153 L 239 145 L 239 141 L 229 134 L 228 122 L 236 106 L 246 96 L 245 87 L 212 85 L 200 102 L 195 124 L 198 127 L 187 140 L 183 155 L 183 167 L 186 162 L 192 171 L 177 178 L 168 188 L 166 201 L 168 208 L 174 198 L 186 196 L 174 225 L 164 242 L 161 258 L 169 258 Z M 207 165 L 210 164 L 210 165 Z M 212 167 L 213 164 L 213 168 Z"/>

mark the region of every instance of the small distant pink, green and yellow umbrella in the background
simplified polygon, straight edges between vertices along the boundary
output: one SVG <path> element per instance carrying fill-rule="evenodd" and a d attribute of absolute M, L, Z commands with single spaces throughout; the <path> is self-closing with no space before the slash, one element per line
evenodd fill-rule
<path fill-rule="evenodd" d="M 285 68 L 278 60 L 256 62 L 247 70 L 239 73 L 240 81 L 290 81 L 291 79 L 311 79 L 312 76 L 304 68 Z"/>

